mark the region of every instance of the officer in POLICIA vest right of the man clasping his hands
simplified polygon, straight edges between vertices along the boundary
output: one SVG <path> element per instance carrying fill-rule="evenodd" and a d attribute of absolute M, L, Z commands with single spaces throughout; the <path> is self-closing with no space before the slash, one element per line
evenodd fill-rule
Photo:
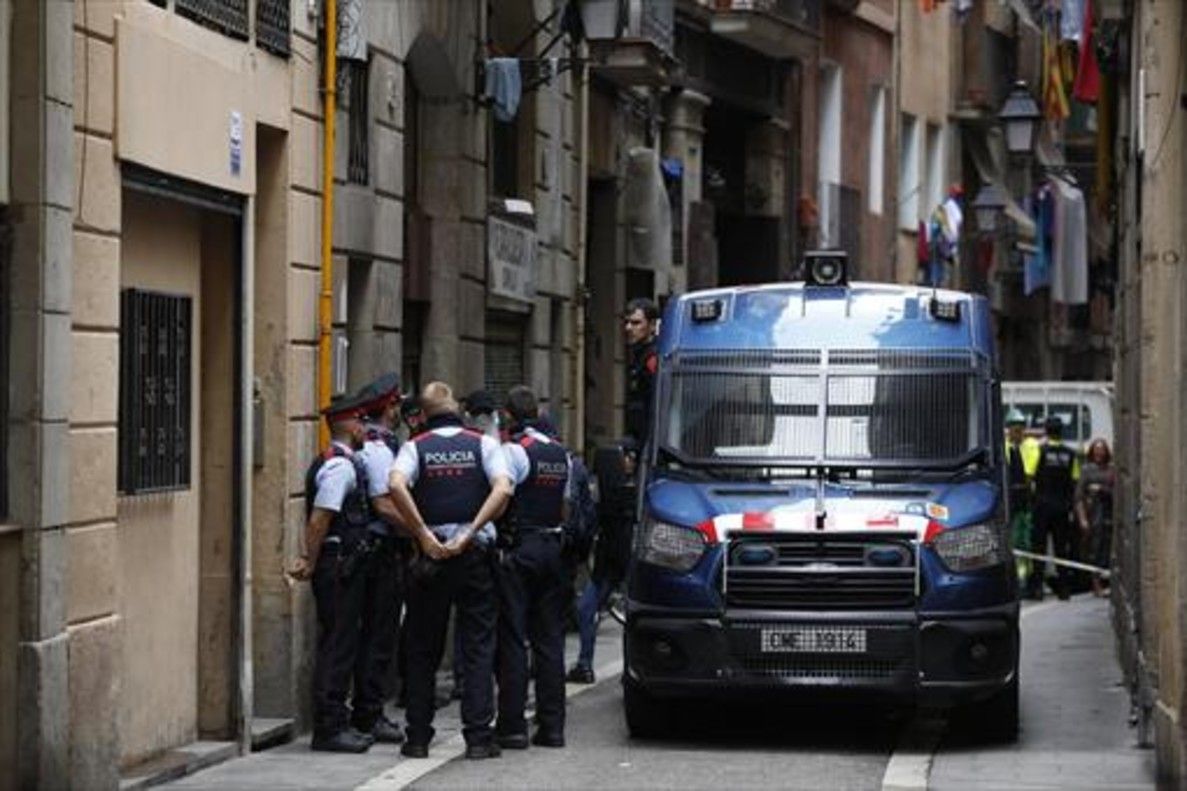
<path fill-rule="evenodd" d="M 535 425 L 539 407 L 527 387 L 507 394 L 512 442 L 507 463 L 515 496 L 500 525 L 499 743 L 528 745 L 528 663 L 535 672 L 537 732 L 532 743 L 565 746 L 565 605 L 563 558 L 572 464 L 569 451 Z"/>

